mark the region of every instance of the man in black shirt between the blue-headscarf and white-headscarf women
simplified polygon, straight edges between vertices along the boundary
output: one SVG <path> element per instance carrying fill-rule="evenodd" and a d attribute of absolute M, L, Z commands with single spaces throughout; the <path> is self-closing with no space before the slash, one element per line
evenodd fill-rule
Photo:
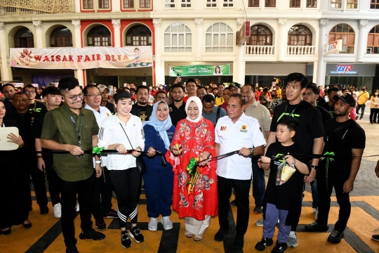
<path fill-rule="evenodd" d="M 168 105 L 168 109 L 170 110 L 171 122 L 176 127 L 176 124 L 178 124 L 180 120 L 187 117 L 187 112 L 185 112 L 185 102 L 183 101 L 185 90 L 180 84 L 174 84 L 171 86 L 170 92 L 173 98 L 173 103 Z"/>

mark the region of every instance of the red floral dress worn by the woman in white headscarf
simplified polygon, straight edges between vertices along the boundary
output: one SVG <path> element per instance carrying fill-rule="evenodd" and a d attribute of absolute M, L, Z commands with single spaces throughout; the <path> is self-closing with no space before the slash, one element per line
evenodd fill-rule
<path fill-rule="evenodd" d="M 188 195 L 187 182 L 190 177 L 187 165 L 192 157 L 199 157 L 203 151 L 215 157 L 215 130 L 208 119 L 201 118 L 199 122 L 189 122 L 182 119 L 178 122 L 171 145 L 181 144 L 182 153 L 173 158 L 170 150 L 166 154 L 168 162 L 173 165 L 173 210 L 179 218 L 192 217 L 203 221 L 206 215 L 218 214 L 217 177 L 215 161 L 206 166 L 198 167 L 200 174 L 192 193 Z"/>

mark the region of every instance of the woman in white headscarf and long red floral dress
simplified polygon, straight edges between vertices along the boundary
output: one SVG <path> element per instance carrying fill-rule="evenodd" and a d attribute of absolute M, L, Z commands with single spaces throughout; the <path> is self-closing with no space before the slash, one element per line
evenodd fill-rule
<path fill-rule="evenodd" d="M 217 180 L 215 161 L 201 162 L 215 157 L 215 132 L 213 124 L 201 117 L 203 106 L 196 96 L 189 97 L 185 105 L 187 118 L 176 126 L 170 151 L 166 154 L 173 164 L 173 209 L 179 218 L 185 220 L 185 235 L 199 241 L 211 222 L 211 216 L 218 213 Z M 192 177 L 188 169 L 191 158 L 199 159 L 197 181 L 189 183 Z M 193 186 L 192 190 L 190 188 Z"/>

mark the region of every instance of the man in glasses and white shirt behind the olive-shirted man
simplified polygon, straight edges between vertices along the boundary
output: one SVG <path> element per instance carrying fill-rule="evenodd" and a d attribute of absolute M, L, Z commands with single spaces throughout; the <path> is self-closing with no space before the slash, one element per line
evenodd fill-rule
<path fill-rule="evenodd" d="M 101 126 L 102 121 L 112 115 L 112 112 L 105 106 L 100 106 L 102 94 L 97 86 L 90 84 L 84 87 L 84 101 L 86 106 L 84 108 L 93 111 L 96 122 Z M 104 218 L 118 218 L 117 212 L 112 209 L 112 181 L 109 178 L 109 171 L 107 169 L 107 156 L 102 155 L 102 170 L 104 178 L 95 179 L 95 186 L 93 188 L 93 202 L 92 214 L 95 217 L 95 226 L 101 231 L 106 228 Z M 93 164 L 95 166 L 95 164 Z M 101 195 L 101 197 L 100 197 Z"/>

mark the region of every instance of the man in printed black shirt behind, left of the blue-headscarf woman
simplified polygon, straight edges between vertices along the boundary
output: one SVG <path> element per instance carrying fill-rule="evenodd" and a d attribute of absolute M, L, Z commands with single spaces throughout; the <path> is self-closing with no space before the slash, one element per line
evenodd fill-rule
<path fill-rule="evenodd" d="M 140 85 L 135 90 L 135 94 L 137 95 L 137 103 L 133 105 L 131 114 L 140 117 L 142 122 L 147 121 L 152 115 L 152 105 L 147 105 L 149 89 L 147 86 Z"/>

